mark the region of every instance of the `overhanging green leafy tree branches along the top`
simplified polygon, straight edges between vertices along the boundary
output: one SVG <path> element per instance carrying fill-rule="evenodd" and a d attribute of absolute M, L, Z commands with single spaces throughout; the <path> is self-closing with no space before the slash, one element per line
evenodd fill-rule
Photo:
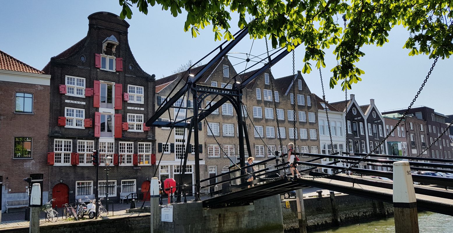
<path fill-rule="evenodd" d="M 334 46 L 337 65 L 331 69 L 330 87 L 342 89 L 361 81 L 364 73 L 355 63 L 365 55 L 366 44 L 383 46 L 390 30 L 402 25 L 408 31 L 403 48 L 409 55 L 449 58 L 453 53 L 451 0 L 120 0 L 120 17 L 132 17 L 130 7 L 144 14 L 161 6 L 176 17 L 187 11 L 185 31 L 197 37 L 199 29 L 212 25 L 214 40 L 234 39 L 231 13 L 237 13 L 239 28 L 249 27 L 252 38 L 266 37 L 272 47 L 305 46 L 303 73 L 325 67 L 325 49 Z M 247 17 L 255 20 L 247 22 Z M 346 24 L 346 27 L 345 27 Z"/>

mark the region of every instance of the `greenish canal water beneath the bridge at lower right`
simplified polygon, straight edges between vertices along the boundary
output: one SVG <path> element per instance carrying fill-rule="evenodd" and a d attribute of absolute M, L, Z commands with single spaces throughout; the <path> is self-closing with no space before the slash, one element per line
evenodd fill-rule
<path fill-rule="evenodd" d="M 432 212 L 419 213 L 420 233 L 453 233 L 453 217 Z M 348 225 L 311 233 L 395 233 L 395 219 Z"/>

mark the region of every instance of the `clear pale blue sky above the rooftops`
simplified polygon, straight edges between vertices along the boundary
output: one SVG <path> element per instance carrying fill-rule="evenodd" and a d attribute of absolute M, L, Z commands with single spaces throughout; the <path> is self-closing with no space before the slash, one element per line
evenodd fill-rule
<path fill-rule="evenodd" d="M 87 34 L 88 15 L 96 11 L 119 15 L 121 7 L 117 0 L 17 0 L 2 1 L 0 9 L 0 50 L 42 69 L 52 56 Z M 172 70 L 190 59 L 197 61 L 221 43 L 214 41 L 211 28 L 201 30 L 201 35 L 192 38 L 190 33 L 183 31 L 185 14 L 174 18 L 160 7 L 149 9 L 148 15 L 134 9 L 132 19 L 126 20 L 130 24 L 129 44 L 136 60 L 146 72 L 156 74 L 157 78 L 171 74 Z M 232 21 L 231 26 L 231 31 L 236 32 L 236 21 Z M 363 48 L 366 56 L 357 65 L 366 73 L 361 76 L 363 81 L 353 85 L 352 91 L 348 92 L 356 95 L 359 104 L 367 104 L 369 99 L 374 98 L 381 112 L 409 105 L 432 61 L 427 56 L 408 56 L 409 51 L 402 49 L 408 35 L 405 29 L 395 27 L 390 32 L 390 43 L 384 47 L 370 45 Z M 231 52 L 248 53 L 251 42 L 246 37 Z M 251 54 L 265 52 L 264 40 L 255 41 Z M 296 70 L 301 70 L 304 47 L 299 46 L 295 52 Z M 232 63 L 235 62 L 240 61 L 232 59 Z M 326 64 L 323 77 L 328 83 L 328 78 L 332 76 L 329 71 L 336 64 L 332 50 L 326 51 Z M 414 106 L 425 105 L 436 112 L 453 114 L 452 64 L 452 58 L 439 60 Z M 237 72 L 243 68 L 241 65 L 235 67 Z M 275 77 L 290 75 L 291 56 L 277 63 L 272 72 Z M 318 71 L 305 74 L 304 78 L 310 90 L 321 96 Z M 344 92 L 339 86 L 333 90 L 327 87 L 326 98 L 329 102 L 341 101 L 344 100 Z"/>

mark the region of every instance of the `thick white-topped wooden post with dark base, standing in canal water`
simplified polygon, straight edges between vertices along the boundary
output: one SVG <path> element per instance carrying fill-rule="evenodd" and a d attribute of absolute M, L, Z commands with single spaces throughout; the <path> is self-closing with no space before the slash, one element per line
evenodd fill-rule
<path fill-rule="evenodd" d="M 395 233 L 419 233 L 417 199 L 408 161 L 393 163 Z"/>

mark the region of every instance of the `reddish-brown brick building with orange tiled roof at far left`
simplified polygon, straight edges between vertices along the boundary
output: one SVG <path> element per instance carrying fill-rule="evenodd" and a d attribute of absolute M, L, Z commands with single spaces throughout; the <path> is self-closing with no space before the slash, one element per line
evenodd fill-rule
<path fill-rule="evenodd" d="M 24 178 L 47 196 L 49 84 L 50 75 L 0 51 L 0 212 L 7 201 L 28 201 Z"/>

